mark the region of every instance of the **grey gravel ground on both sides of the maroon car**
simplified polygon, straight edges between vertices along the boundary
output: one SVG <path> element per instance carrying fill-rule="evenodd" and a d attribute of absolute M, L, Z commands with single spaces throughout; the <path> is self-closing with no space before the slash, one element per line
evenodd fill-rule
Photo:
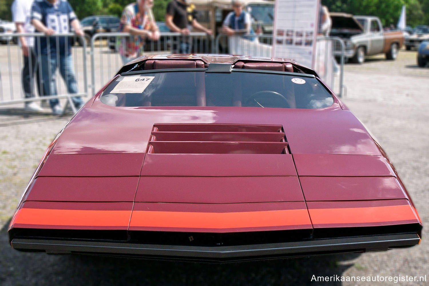
<path fill-rule="evenodd" d="M 347 64 L 344 102 L 387 151 L 423 224 L 428 225 L 429 69 L 417 68 L 415 58 L 415 51 L 401 51 L 393 62 L 372 57 L 363 65 Z M 0 109 L 1 285 L 369 285 L 311 283 L 313 275 L 426 275 L 429 280 L 427 228 L 422 243 L 409 249 L 225 265 L 15 251 L 8 244 L 9 221 L 45 149 L 68 120 L 67 116 L 33 115 L 18 108 Z"/>

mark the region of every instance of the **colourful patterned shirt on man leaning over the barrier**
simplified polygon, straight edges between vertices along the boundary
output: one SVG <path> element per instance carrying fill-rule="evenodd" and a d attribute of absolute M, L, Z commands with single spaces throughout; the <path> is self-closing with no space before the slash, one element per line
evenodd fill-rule
<path fill-rule="evenodd" d="M 126 6 L 124 12 L 122 12 L 119 31 L 122 32 L 126 25 L 140 30 L 153 31 L 156 24 L 152 11 L 142 14 L 139 12 L 137 3 L 131 3 Z M 119 37 L 119 53 L 126 57 L 139 57 L 143 54 L 144 43 L 145 38 L 143 36 Z"/>

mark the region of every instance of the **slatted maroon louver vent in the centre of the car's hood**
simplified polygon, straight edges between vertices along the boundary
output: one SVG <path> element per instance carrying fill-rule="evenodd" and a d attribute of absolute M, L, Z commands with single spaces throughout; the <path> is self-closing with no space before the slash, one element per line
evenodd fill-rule
<path fill-rule="evenodd" d="M 149 154 L 289 154 L 281 125 L 155 124 Z"/>

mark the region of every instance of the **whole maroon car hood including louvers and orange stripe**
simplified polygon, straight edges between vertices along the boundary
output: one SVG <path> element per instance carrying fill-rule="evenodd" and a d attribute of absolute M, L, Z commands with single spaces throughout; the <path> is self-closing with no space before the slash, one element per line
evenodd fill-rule
<path fill-rule="evenodd" d="M 237 112 L 96 100 L 46 155 L 11 228 L 310 230 L 345 226 L 344 210 L 351 226 L 419 222 L 393 166 L 338 102 Z"/>

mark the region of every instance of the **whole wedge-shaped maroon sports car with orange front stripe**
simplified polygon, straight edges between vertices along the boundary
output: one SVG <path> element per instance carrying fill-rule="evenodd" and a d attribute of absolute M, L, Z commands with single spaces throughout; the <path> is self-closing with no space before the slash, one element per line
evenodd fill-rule
<path fill-rule="evenodd" d="M 125 65 L 49 146 L 13 248 L 231 261 L 420 242 L 363 124 L 292 60 L 153 56 Z"/>

